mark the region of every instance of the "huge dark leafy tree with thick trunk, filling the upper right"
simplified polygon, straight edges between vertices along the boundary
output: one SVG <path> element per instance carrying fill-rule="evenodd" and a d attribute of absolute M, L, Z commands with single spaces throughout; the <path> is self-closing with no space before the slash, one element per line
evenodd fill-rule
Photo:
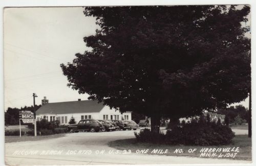
<path fill-rule="evenodd" d="M 231 6 L 86 7 L 100 29 L 91 51 L 61 64 L 68 86 L 110 107 L 173 120 L 248 96 L 250 9 Z"/>

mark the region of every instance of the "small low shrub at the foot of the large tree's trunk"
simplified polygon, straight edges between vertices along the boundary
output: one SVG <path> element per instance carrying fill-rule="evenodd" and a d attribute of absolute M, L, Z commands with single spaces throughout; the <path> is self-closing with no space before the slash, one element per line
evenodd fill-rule
<path fill-rule="evenodd" d="M 162 132 L 151 132 L 150 129 L 140 130 L 139 133 L 134 132 L 137 141 L 144 143 L 161 143 L 164 140 L 164 134 Z"/>

